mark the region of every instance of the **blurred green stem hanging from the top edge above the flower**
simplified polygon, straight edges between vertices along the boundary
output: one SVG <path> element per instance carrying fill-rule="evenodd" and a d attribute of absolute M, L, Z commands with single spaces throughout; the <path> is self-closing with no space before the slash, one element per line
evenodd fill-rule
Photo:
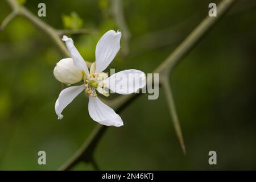
<path fill-rule="evenodd" d="M 112 0 L 112 14 L 114 16 L 115 22 L 118 28 L 122 32 L 122 53 L 123 56 L 127 56 L 129 53 L 129 40 L 131 34 L 127 26 L 125 15 L 123 14 L 123 4 L 122 0 Z"/>

